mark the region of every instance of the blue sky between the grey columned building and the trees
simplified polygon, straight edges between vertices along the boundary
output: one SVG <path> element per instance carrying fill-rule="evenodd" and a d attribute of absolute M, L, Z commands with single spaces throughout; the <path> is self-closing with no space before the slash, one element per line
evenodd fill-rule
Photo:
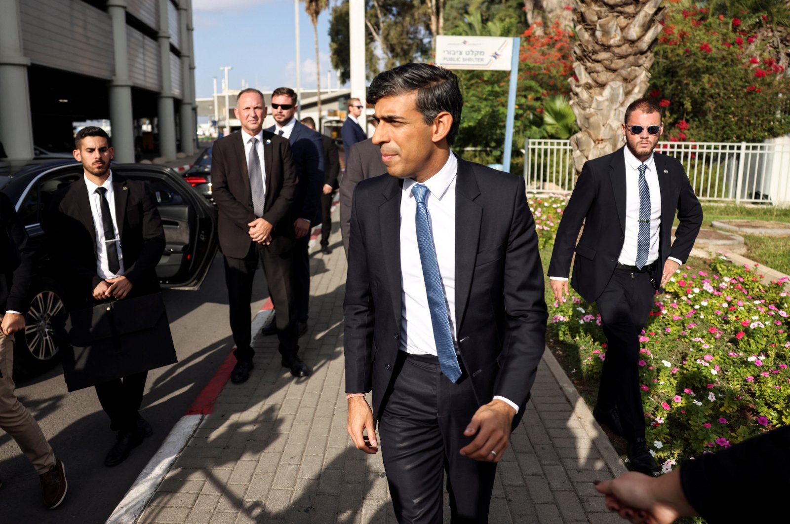
<path fill-rule="evenodd" d="M 335 5 L 337 0 L 329 2 Z M 296 87 L 296 51 L 293 0 L 193 0 L 195 90 L 198 98 L 222 90 L 224 71 L 231 89 L 242 80 L 250 87 L 270 91 Z M 329 9 L 318 17 L 318 51 L 322 88 L 332 70 L 329 58 Z M 299 58 L 302 88 L 315 88 L 315 45 L 313 24 L 299 2 Z M 337 75 L 332 74 L 332 87 Z"/>

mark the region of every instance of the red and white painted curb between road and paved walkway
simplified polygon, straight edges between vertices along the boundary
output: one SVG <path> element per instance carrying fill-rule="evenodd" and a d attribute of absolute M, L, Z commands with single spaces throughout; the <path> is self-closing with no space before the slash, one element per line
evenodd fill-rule
<path fill-rule="evenodd" d="M 255 341 L 261 328 L 269 320 L 269 316 L 274 312 L 272 299 L 267 298 L 265 304 L 252 321 L 252 342 Z M 235 349 L 235 348 L 234 348 Z M 231 376 L 231 371 L 235 365 L 236 358 L 231 351 L 224 362 L 216 369 L 214 376 L 209 380 L 198 396 L 192 402 L 192 405 L 186 410 L 186 414 L 175 423 L 173 429 L 167 435 L 167 438 L 162 443 L 162 447 L 156 454 L 152 456 L 145 468 L 137 476 L 134 484 L 126 496 L 115 507 L 110 518 L 107 518 L 106 524 L 132 524 L 137 521 L 145 505 L 151 500 L 156 488 L 164 480 L 164 476 L 171 470 L 175 459 L 178 458 L 181 451 L 186 447 L 186 443 L 194 435 L 198 429 L 198 425 L 206 415 L 213 414 L 214 402 L 216 397 L 220 395 L 220 391 L 228 382 Z"/>

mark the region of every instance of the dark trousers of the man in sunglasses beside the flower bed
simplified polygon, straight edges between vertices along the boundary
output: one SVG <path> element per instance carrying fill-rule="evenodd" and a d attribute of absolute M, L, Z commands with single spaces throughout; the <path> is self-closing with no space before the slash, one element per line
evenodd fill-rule
<path fill-rule="evenodd" d="M 615 269 L 596 301 L 606 335 L 598 406 L 616 407 L 627 440 L 645 438 L 645 411 L 639 384 L 639 335 L 653 309 L 656 290 L 648 273 Z"/>

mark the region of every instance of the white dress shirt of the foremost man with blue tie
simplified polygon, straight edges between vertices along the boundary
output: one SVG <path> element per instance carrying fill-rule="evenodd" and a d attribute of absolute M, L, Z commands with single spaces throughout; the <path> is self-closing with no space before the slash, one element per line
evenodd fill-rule
<path fill-rule="evenodd" d="M 457 347 L 457 324 L 455 317 L 455 185 L 458 161 L 452 153 L 444 167 L 427 181 L 423 182 L 430 193 L 426 200 L 428 214 L 431 216 L 431 236 L 442 279 L 447 313 L 450 320 L 450 334 L 453 345 Z M 423 266 L 419 259 L 417 245 L 416 211 L 417 203 L 412 188 L 417 182 L 404 178 L 401 189 L 401 350 L 411 354 L 436 355 L 434 327 L 431 322 L 431 309 L 428 305 L 427 290 L 423 277 Z M 507 402 L 518 412 L 518 406 L 504 397 L 495 396 Z"/>

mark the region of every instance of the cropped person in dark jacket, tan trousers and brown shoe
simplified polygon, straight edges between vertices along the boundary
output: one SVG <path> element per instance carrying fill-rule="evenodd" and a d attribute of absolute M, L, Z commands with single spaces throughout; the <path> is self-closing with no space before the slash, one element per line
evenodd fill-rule
<path fill-rule="evenodd" d="M 13 438 L 41 478 L 44 507 L 54 509 L 66 496 L 63 462 L 47 443 L 41 428 L 14 394 L 13 345 L 24 337 L 32 249 L 11 200 L 0 193 L 0 429 Z M 2 481 L 0 481 L 2 485 Z"/>

